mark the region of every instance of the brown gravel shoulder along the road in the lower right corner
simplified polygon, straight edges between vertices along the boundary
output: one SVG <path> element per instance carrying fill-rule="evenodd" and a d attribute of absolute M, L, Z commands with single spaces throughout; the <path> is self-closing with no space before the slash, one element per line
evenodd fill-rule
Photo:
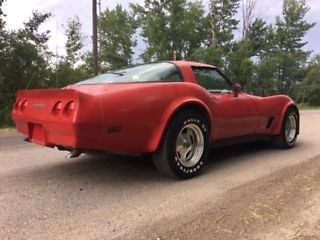
<path fill-rule="evenodd" d="M 119 239 L 320 239 L 320 157 Z"/>

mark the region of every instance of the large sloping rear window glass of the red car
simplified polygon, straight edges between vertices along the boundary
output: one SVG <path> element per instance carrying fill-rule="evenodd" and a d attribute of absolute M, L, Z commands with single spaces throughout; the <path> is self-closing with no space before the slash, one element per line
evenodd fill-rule
<path fill-rule="evenodd" d="M 183 77 L 172 63 L 151 63 L 108 72 L 77 84 L 181 82 Z"/>

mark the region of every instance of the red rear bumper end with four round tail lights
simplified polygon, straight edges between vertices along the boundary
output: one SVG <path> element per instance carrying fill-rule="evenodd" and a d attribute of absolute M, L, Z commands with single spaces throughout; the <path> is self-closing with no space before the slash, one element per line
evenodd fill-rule
<path fill-rule="evenodd" d="M 12 118 L 33 143 L 61 149 L 101 146 L 100 99 L 74 89 L 19 91 Z"/>

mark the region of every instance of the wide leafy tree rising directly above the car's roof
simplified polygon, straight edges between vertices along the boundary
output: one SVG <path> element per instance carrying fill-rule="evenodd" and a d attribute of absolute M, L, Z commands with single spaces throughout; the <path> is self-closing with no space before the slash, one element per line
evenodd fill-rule
<path fill-rule="evenodd" d="M 201 1 L 145 0 L 143 6 L 131 7 L 147 46 L 145 62 L 190 59 L 201 46 L 205 33 Z"/>

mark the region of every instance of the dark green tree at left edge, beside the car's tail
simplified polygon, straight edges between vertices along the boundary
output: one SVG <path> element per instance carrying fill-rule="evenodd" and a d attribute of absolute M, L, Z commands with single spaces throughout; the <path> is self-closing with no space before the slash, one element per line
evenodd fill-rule
<path fill-rule="evenodd" d="M 6 32 L 4 54 L 0 59 L 0 123 L 10 124 L 10 112 L 19 89 L 39 88 L 49 82 L 49 59 L 47 41 L 49 31 L 39 32 L 40 25 L 50 17 L 49 13 L 33 12 L 24 28 Z M 0 60 L 0 61 L 1 61 Z"/>

